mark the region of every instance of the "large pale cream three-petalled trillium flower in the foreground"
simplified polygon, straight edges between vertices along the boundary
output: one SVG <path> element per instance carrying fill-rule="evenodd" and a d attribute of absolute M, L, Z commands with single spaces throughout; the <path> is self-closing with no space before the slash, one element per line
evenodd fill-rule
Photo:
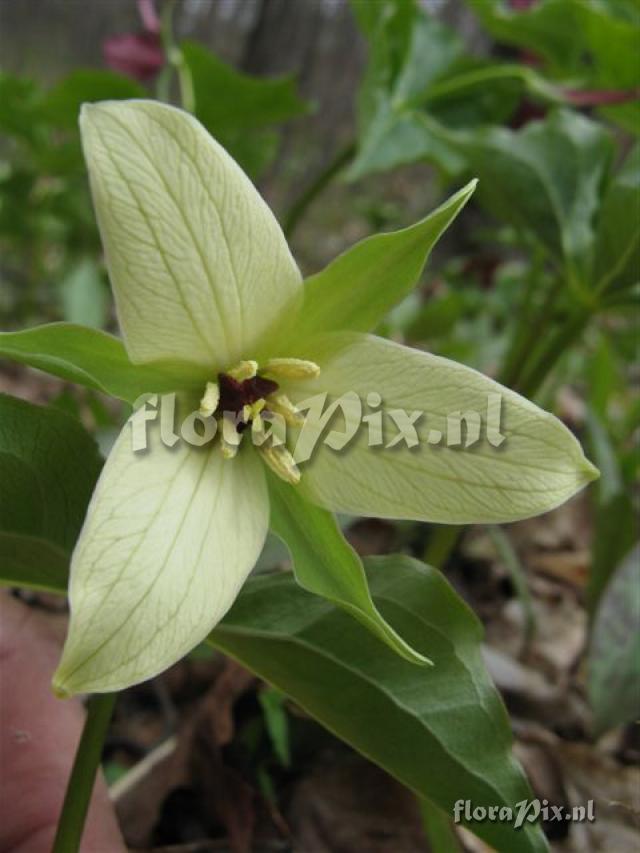
<path fill-rule="evenodd" d="M 417 448 L 371 448 L 364 430 L 343 453 L 320 443 L 300 467 L 286 442 L 257 446 L 246 430 L 236 442 L 151 442 L 136 453 L 125 425 L 72 558 L 59 695 L 143 681 L 207 636 L 263 547 L 269 469 L 296 498 L 332 511 L 461 524 L 544 512 L 597 475 L 571 433 L 519 395 L 447 359 L 344 333 L 339 306 L 323 306 L 322 293 L 311 309 L 276 219 L 192 116 L 107 102 L 83 108 L 81 130 L 134 364 L 192 366 L 209 377 L 202 414 L 216 417 L 233 398 L 252 430 L 269 411 L 297 430 L 297 404 L 314 394 L 372 391 L 389 409 L 428 413 L 428 425 Z M 326 333 L 327 314 L 339 334 Z M 428 446 L 448 413 L 484 411 L 496 393 L 502 447 Z"/>

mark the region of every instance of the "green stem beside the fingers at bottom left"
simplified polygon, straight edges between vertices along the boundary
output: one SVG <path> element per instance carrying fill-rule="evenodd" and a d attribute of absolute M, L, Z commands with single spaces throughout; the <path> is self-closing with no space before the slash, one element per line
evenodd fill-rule
<path fill-rule="evenodd" d="M 52 853 L 76 853 L 84 831 L 102 745 L 117 693 L 97 693 L 89 700 L 87 719 L 62 804 Z"/>

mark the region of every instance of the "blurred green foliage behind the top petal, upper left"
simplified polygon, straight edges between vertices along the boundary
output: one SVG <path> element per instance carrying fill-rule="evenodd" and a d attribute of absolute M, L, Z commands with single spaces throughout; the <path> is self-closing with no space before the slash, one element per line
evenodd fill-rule
<path fill-rule="evenodd" d="M 167 7 L 172 11 L 172 5 Z M 236 71 L 195 42 L 174 44 L 163 30 L 168 65 L 158 89 L 171 97 L 177 69 L 192 111 L 257 179 L 276 156 L 282 123 L 309 104 L 292 77 L 262 79 Z M 137 44 L 128 44 L 134 73 Z M 116 63 L 118 64 L 118 63 Z M 138 76 L 140 76 L 138 74 Z M 148 74 L 142 75 L 148 77 Z M 43 320 L 112 325 L 106 271 L 80 150 L 83 103 L 142 98 L 148 86 L 111 70 L 79 69 L 47 90 L 0 71 L 0 316 L 2 326 Z"/>

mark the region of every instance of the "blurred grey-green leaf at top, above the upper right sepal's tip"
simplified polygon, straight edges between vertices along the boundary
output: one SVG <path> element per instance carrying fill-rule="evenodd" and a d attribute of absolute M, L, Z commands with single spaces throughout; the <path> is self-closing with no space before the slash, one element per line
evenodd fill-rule
<path fill-rule="evenodd" d="M 466 55 L 460 36 L 416 3 L 356 3 L 355 10 L 369 58 L 358 94 L 352 180 L 422 160 L 456 175 L 464 156 L 439 132 L 440 124 L 501 124 L 525 91 L 547 101 L 561 98 L 533 68 Z"/>

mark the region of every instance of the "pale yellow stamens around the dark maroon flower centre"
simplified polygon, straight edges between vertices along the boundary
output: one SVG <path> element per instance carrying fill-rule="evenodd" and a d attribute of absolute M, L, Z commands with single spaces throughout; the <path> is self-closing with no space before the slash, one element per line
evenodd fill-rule
<path fill-rule="evenodd" d="M 258 375 L 257 361 L 241 361 L 227 375 L 237 382 L 253 379 Z M 315 379 L 320 375 L 320 368 L 313 361 L 305 361 L 300 358 L 270 358 L 260 368 L 261 374 L 267 374 L 277 379 Z M 200 414 L 204 417 L 213 415 L 220 404 L 220 388 L 217 382 L 207 382 L 205 392 L 200 400 Z M 262 458 L 271 470 L 287 483 L 296 485 L 300 482 L 300 471 L 293 456 L 287 450 L 284 440 L 278 439 L 274 434 L 266 437 L 265 419 L 262 417 L 264 410 L 280 415 L 285 423 L 290 426 L 302 426 L 304 418 L 287 397 L 281 391 L 270 394 L 266 399 L 256 400 L 247 404 L 242 410 L 244 423 L 251 423 L 251 430 L 257 439 L 256 446 Z M 220 430 L 220 452 L 225 459 L 233 459 L 237 454 L 242 441 L 242 434 L 236 429 L 237 425 L 232 421 L 226 421 L 223 417 L 219 420 Z M 261 439 L 261 440 L 260 440 Z"/>

